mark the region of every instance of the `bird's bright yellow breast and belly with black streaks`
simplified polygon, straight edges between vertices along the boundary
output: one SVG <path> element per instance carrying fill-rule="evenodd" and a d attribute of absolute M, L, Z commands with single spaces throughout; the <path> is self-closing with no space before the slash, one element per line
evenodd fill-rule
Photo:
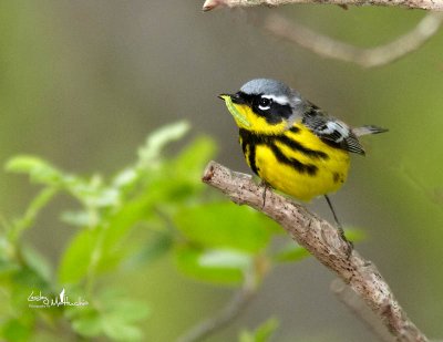
<path fill-rule="evenodd" d="M 348 152 L 323 143 L 301 123 L 277 135 L 240 129 L 240 144 L 261 179 L 301 200 L 337 191 L 348 176 Z"/>

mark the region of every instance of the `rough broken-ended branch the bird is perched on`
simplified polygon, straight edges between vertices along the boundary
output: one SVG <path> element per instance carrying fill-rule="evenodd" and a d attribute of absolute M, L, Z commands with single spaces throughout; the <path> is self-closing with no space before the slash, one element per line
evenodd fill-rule
<path fill-rule="evenodd" d="M 267 191 L 264 204 L 264 188 L 249 175 L 233 172 L 215 162 L 207 165 L 203 182 L 222 190 L 234 203 L 248 205 L 280 224 L 293 240 L 348 283 L 398 341 L 427 341 L 408 319 L 375 266 L 357 250 L 349 255 L 347 241 L 328 221 L 274 191 Z"/>

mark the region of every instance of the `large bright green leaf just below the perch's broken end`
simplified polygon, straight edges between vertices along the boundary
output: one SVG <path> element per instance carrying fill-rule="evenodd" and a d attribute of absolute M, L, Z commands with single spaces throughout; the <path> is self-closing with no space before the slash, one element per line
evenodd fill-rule
<path fill-rule="evenodd" d="M 213 203 L 182 208 L 174 222 L 185 238 L 202 247 L 258 252 L 270 241 L 276 224 L 248 207 Z"/>

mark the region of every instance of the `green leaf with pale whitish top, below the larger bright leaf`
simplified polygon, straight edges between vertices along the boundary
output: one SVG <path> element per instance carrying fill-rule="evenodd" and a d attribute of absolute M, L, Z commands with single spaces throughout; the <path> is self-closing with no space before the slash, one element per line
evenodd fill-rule
<path fill-rule="evenodd" d="M 202 250 L 183 247 L 176 251 L 177 268 L 185 274 L 215 283 L 239 283 L 250 267 L 251 256 L 228 249 Z"/>

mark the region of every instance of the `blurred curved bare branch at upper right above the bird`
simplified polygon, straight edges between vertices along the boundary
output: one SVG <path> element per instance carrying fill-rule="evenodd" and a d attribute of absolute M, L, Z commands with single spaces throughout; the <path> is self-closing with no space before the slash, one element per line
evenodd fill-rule
<path fill-rule="evenodd" d="M 343 43 L 278 14 L 271 14 L 266 19 L 265 29 L 319 55 L 353 62 L 364 68 L 373 68 L 388 64 L 419 49 L 437 32 L 442 22 L 443 13 L 431 12 L 406 34 L 373 49 L 361 49 Z"/>

